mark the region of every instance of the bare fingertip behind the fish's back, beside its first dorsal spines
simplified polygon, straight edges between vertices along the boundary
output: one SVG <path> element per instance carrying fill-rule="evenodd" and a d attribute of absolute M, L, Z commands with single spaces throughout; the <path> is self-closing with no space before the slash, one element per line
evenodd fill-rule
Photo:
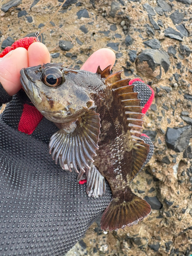
<path fill-rule="evenodd" d="M 112 65 L 112 69 L 115 63 L 115 58 L 115 53 L 111 49 L 102 48 L 94 52 L 83 64 L 81 69 L 94 73 L 97 71 L 98 66 L 100 66 L 101 70 L 103 70 L 109 65 Z"/>

